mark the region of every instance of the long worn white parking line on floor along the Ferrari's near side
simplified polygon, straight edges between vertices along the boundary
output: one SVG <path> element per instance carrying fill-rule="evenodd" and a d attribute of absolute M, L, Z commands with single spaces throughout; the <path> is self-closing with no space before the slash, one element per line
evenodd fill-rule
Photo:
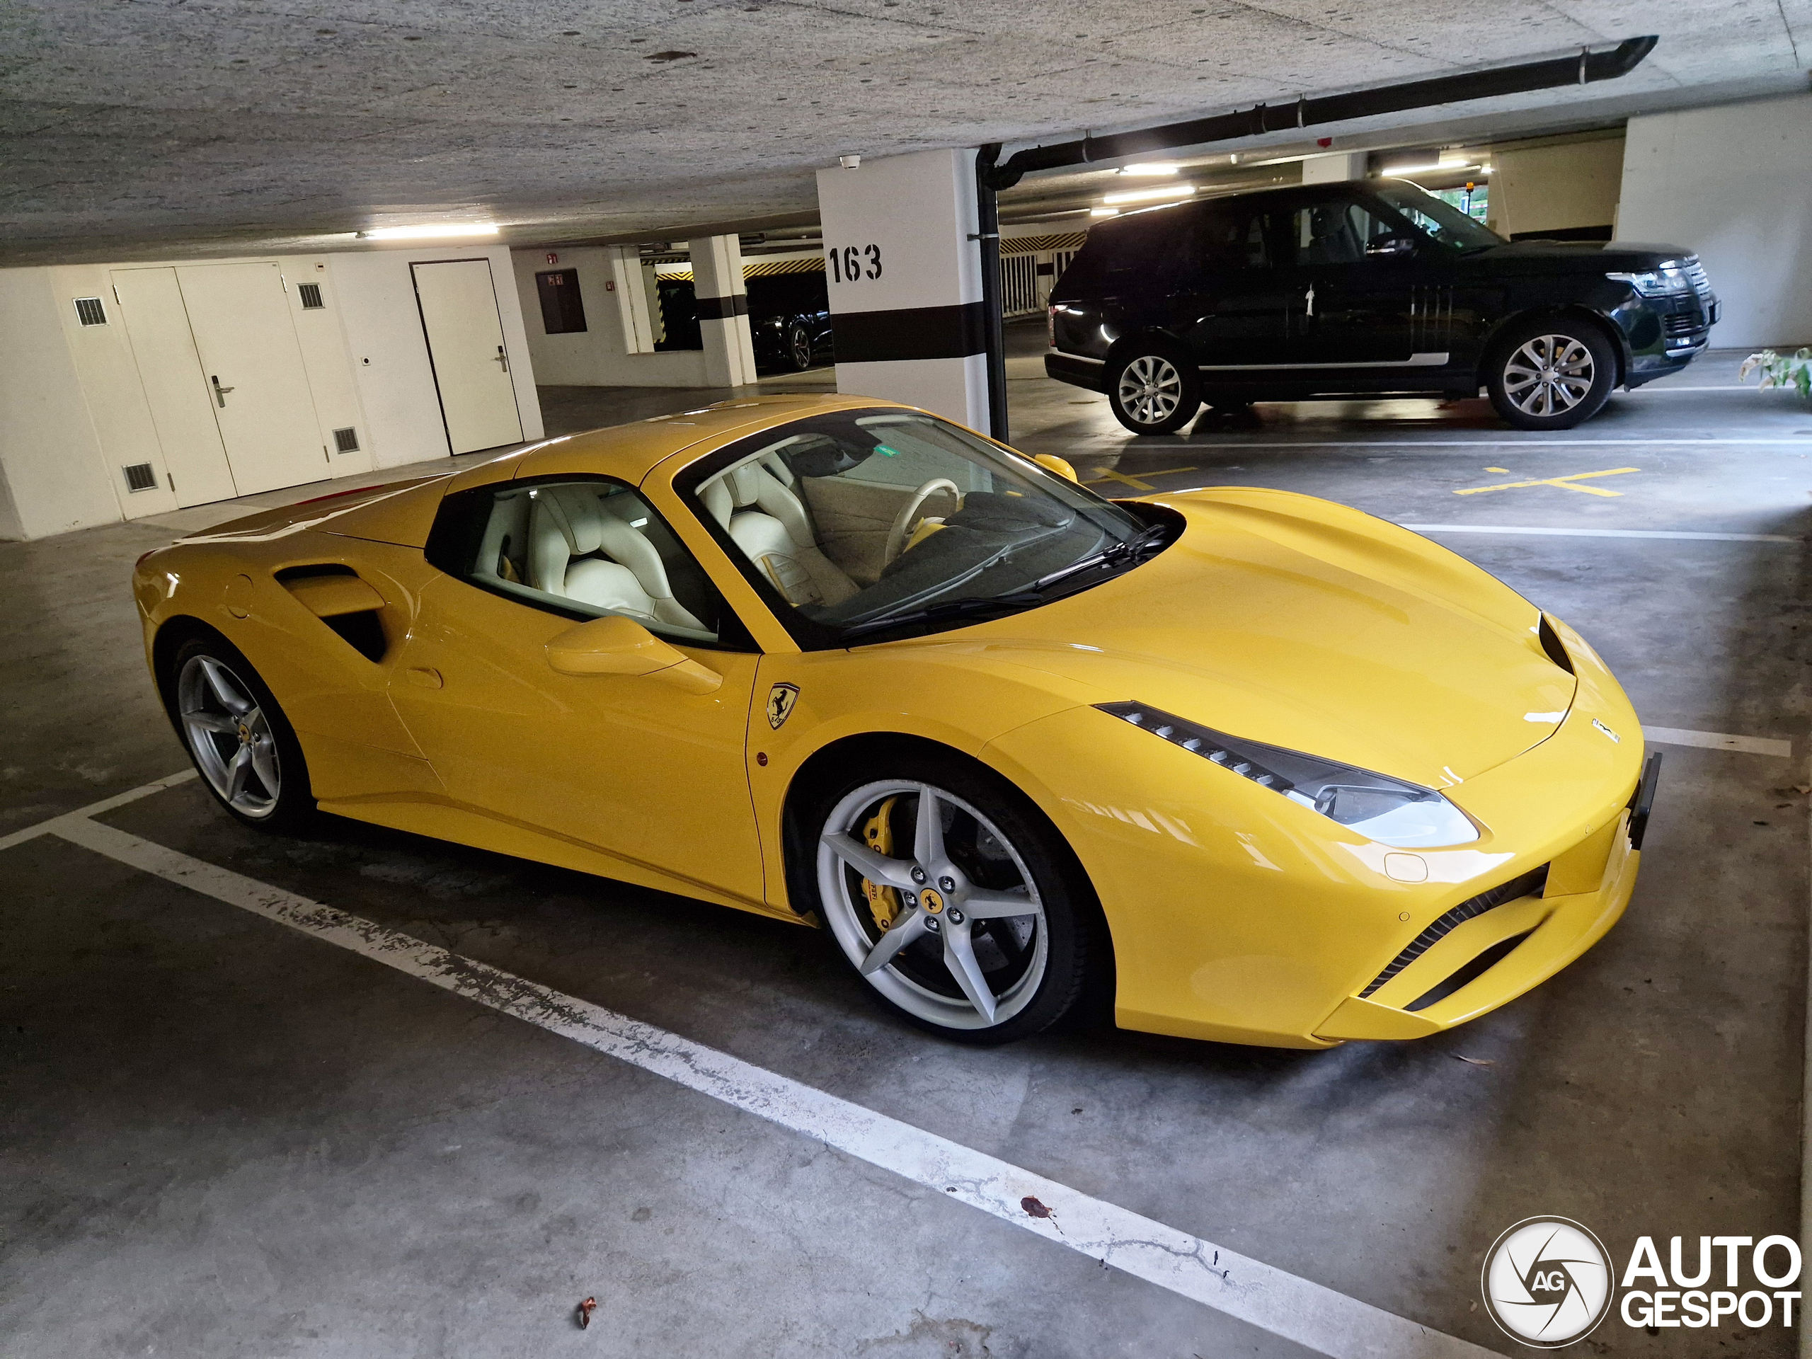
<path fill-rule="evenodd" d="M 138 795 L 169 783 L 147 785 Z M 1493 1355 L 1471 1341 L 1406 1321 L 911 1123 L 82 814 L 42 823 L 33 834 L 53 834 L 558 1033 L 1317 1354 L 1335 1359 Z M 1047 1216 L 1033 1216 L 1029 1209 Z"/>

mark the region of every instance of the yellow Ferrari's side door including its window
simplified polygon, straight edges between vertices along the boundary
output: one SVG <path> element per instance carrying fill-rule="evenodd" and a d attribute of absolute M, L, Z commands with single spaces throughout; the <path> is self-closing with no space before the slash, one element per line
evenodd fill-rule
<path fill-rule="evenodd" d="M 391 699 L 448 794 L 752 904 L 761 848 L 745 766 L 757 656 L 656 511 L 607 478 L 448 496 Z M 721 678 L 562 674 L 547 643 L 625 616 Z"/>

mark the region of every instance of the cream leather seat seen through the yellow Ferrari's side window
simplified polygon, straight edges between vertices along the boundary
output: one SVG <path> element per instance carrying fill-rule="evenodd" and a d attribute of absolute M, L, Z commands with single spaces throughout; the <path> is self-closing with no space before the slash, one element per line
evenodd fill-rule
<path fill-rule="evenodd" d="M 707 631 L 674 600 L 661 554 L 583 486 L 540 486 L 529 509 L 529 583 L 596 609 Z M 594 556 L 603 553 L 603 556 Z"/>

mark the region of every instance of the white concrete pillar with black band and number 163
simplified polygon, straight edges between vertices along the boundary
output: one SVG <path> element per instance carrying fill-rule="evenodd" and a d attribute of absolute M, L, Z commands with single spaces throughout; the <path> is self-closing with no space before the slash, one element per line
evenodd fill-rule
<path fill-rule="evenodd" d="M 837 391 L 988 428 L 975 152 L 817 172 Z"/>

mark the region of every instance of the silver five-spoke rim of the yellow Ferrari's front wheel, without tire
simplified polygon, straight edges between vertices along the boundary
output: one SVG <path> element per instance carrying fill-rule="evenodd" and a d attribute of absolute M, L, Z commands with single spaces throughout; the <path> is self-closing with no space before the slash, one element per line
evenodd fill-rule
<path fill-rule="evenodd" d="M 877 853 L 861 835 L 877 808 L 888 814 L 890 799 L 911 801 L 904 859 Z M 1009 877 L 1018 881 L 1006 884 Z M 899 915 L 888 928 L 875 919 L 863 881 L 897 893 Z M 830 931 L 868 984 L 940 1027 L 1004 1024 L 1044 982 L 1044 902 L 1026 861 L 993 821 L 933 785 L 882 779 L 837 803 L 819 835 L 817 895 Z"/>

